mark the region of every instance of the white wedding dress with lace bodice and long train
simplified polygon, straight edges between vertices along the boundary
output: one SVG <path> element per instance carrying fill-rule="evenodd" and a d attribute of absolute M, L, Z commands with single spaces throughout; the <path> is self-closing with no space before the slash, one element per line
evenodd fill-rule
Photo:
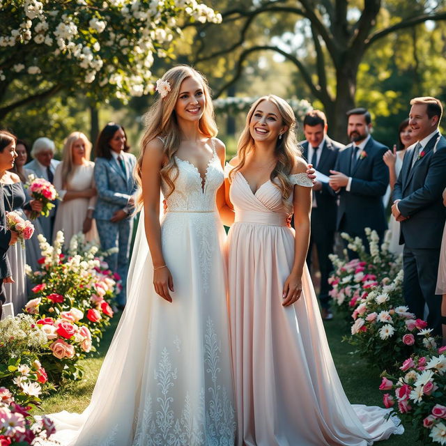
<path fill-rule="evenodd" d="M 128 302 L 91 403 L 82 414 L 49 415 L 64 446 L 234 445 L 224 229 L 215 206 L 224 174 L 215 149 L 203 181 L 192 164 L 176 162 L 161 226 L 173 302 L 153 289 L 141 212 Z"/>

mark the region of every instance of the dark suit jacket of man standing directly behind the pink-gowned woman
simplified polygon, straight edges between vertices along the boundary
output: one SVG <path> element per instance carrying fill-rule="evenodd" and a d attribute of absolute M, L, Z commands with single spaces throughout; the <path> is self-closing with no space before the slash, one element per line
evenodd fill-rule
<path fill-rule="evenodd" d="M 300 144 L 303 148 L 302 155 L 308 159 L 308 141 L 302 141 Z M 314 169 L 324 175 L 330 175 L 330 169 L 334 169 L 339 155 L 339 150 L 344 148 L 344 144 L 333 141 L 325 136 L 325 141 L 322 147 L 321 156 L 317 166 Z M 336 231 L 336 215 L 337 215 L 337 194 L 334 193 L 328 183 L 322 183 L 322 189 L 314 192 L 314 199 L 316 199 L 316 208 L 312 208 L 312 226 L 323 226 L 329 231 Z"/>

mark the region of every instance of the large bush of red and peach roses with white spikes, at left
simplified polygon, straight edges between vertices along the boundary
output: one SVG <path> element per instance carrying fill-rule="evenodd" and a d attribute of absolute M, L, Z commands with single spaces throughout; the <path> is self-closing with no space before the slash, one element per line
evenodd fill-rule
<path fill-rule="evenodd" d="M 27 270 L 36 286 L 24 311 L 33 316 L 47 337 L 49 354 L 41 360 L 51 380 L 79 379 L 83 376 L 79 359 L 98 347 L 113 317 L 109 302 L 118 285 L 107 264 L 95 256 L 97 247 L 71 256 L 62 254 L 61 231 L 54 245 L 42 235 L 38 240 L 43 256 L 38 271 Z M 70 248 L 72 253 L 82 250 L 76 243 Z"/>

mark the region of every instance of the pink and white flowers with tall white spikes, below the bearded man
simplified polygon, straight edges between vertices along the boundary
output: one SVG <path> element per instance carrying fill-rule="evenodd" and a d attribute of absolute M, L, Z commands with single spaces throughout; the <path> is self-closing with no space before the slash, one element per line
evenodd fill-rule
<path fill-rule="evenodd" d="M 346 233 L 341 233 L 341 237 L 348 240 L 348 249 L 357 252 L 358 258 L 348 260 L 346 251 L 344 258 L 330 254 L 334 267 L 334 272 L 328 279 L 332 286 L 330 296 L 334 309 L 348 323 L 360 300 L 367 298 L 367 294 L 376 286 L 388 284 L 390 277 L 397 277 L 402 268 L 401 256 L 389 251 L 390 232 L 387 231 L 382 245 L 379 245 L 376 231 L 366 228 L 365 233 L 369 252 L 359 237 L 352 238 Z"/>

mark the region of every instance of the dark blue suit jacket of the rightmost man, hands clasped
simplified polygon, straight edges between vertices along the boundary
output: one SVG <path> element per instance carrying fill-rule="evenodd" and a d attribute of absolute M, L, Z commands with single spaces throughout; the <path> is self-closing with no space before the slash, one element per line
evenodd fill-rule
<path fill-rule="evenodd" d="M 446 210 L 442 193 L 446 187 L 446 139 L 440 132 L 424 147 L 424 155 L 411 168 L 415 145 L 404 154 L 393 199 L 399 212 L 410 217 L 401 222 L 399 243 L 408 248 L 440 248 Z M 417 154 L 415 154 L 417 156 Z"/>

